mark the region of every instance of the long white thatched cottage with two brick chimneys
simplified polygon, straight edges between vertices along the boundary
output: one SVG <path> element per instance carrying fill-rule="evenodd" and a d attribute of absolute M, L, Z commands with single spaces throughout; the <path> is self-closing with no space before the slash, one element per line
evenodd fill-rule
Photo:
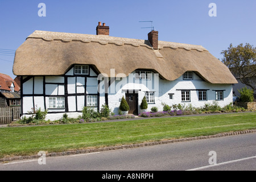
<path fill-rule="evenodd" d="M 162 103 L 232 102 L 236 78 L 204 47 L 160 41 L 154 30 L 148 40 L 109 36 L 100 22 L 96 30 L 96 35 L 35 31 L 27 37 L 13 66 L 23 114 L 38 106 L 57 118 L 105 103 L 117 114 L 122 96 L 133 114 L 141 112 L 144 96 L 148 110 L 162 110 Z"/>

